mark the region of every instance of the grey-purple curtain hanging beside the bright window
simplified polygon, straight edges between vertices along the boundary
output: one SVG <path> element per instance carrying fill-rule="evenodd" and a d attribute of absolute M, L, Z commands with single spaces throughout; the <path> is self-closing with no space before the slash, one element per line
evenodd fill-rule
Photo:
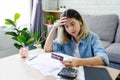
<path fill-rule="evenodd" d="M 42 0 L 33 0 L 32 17 L 31 17 L 31 31 L 39 31 L 40 35 L 43 32 L 42 21 Z"/>

